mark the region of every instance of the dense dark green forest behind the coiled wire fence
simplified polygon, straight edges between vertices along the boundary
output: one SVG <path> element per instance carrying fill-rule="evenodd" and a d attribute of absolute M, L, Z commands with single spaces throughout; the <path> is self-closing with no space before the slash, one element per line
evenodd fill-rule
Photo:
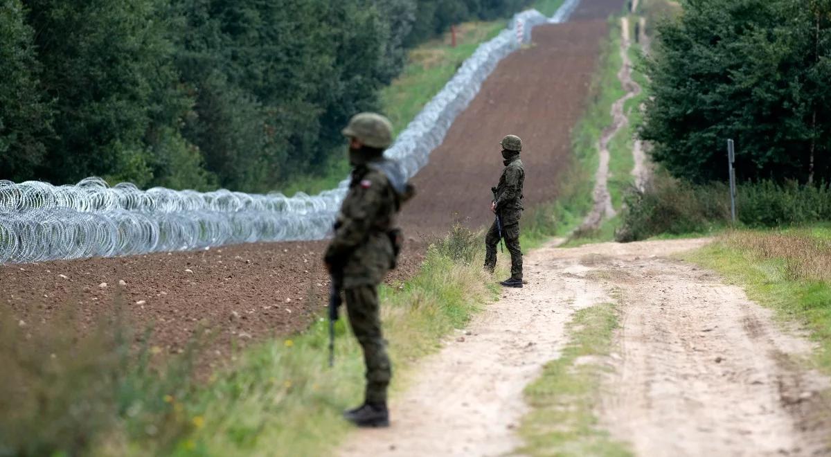
<path fill-rule="evenodd" d="M 0 179 L 278 189 L 406 50 L 528 0 L 0 0 Z"/>

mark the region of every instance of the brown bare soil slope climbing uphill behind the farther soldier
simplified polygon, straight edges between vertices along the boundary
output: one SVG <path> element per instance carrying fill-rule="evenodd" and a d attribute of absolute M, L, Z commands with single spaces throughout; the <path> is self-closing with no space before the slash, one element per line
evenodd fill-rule
<path fill-rule="evenodd" d="M 526 207 L 556 198 L 606 35 L 606 21 L 534 28 L 534 44 L 499 64 L 416 175 L 419 193 L 402 214 L 405 227 L 436 233 L 456 221 L 489 224 L 490 187 L 503 167 L 499 140 L 508 134 L 524 142 Z"/>

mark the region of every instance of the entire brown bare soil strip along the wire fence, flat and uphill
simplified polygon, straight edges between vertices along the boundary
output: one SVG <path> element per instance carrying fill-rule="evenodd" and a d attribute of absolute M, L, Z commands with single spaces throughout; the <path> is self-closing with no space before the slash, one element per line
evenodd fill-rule
<path fill-rule="evenodd" d="M 585 3 L 594 11 L 605 1 Z M 591 11 L 578 13 L 593 17 Z M 409 243 L 388 282 L 411 277 L 429 239 L 445 233 L 454 219 L 472 227 L 489 223 L 489 189 L 502 167 L 498 143 L 503 135 L 520 135 L 527 145 L 528 204 L 556 197 L 569 131 L 582 113 L 606 34 L 605 20 L 538 27 L 532 47 L 502 61 L 416 176 L 418 196 L 401 220 Z M 213 329 L 209 356 L 227 356 L 232 343 L 245 346 L 301 331 L 321 312 L 328 287 L 320 262 L 325 245 L 256 243 L 5 265 L 0 266 L 0 303 L 27 325 L 69 310 L 81 330 L 94 327 L 121 303 L 137 330 L 153 327 L 153 344 L 165 351 L 182 350 L 201 326 Z"/>

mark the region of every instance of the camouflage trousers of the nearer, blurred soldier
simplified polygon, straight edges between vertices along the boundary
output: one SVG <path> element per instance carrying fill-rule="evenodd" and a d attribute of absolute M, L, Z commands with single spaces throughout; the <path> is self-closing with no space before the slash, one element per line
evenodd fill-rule
<path fill-rule="evenodd" d="M 350 287 L 344 291 L 352 332 L 364 353 L 366 364 L 367 403 L 386 402 L 386 388 L 390 385 L 392 370 L 386 356 L 386 341 L 381 334 L 381 316 L 376 286 Z"/>

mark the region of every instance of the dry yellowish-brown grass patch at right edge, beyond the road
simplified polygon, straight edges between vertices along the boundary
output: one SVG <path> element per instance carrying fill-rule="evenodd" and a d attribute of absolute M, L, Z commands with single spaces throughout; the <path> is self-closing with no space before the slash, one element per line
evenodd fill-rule
<path fill-rule="evenodd" d="M 831 241 L 807 230 L 793 233 L 733 232 L 728 243 L 764 259 L 784 261 L 789 279 L 831 282 Z"/>

